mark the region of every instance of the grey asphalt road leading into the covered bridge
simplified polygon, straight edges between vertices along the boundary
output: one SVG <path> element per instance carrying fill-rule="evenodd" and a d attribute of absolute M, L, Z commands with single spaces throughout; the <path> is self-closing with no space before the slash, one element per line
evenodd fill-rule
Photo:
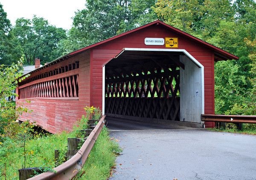
<path fill-rule="evenodd" d="M 256 180 L 256 136 L 113 119 L 108 127 L 123 148 L 110 180 Z"/>

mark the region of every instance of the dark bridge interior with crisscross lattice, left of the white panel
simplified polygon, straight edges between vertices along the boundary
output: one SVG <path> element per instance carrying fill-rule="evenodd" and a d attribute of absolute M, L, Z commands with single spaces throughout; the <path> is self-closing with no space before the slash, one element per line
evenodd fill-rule
<path fill-rule="evenodd" d="M 105 66 L 105 114 L 180 121 L 182 52 L 124 51 Z"/>

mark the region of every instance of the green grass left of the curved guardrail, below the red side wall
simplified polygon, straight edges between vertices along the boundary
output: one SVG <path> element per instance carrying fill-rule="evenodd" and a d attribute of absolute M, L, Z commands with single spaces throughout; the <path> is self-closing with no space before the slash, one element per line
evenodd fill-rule
<path fill-rule="evenodd" d="M 25 141 L 26 168 L 54 168 L 54 150 L 60 150 L 61 158 L 67 151 L 68 134 L 43 136 Z M 0 145 L 0 177 L 8 180 L 18 179 L 18 169 L 24 167 L 24 144 L 20 141 L 6 139 Z"/>

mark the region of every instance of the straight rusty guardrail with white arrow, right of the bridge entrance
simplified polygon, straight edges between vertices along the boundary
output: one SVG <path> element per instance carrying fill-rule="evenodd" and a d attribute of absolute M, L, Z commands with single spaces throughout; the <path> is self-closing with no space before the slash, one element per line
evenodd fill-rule
<path fill-rule="evenodd" d="M 202 114 L 201 121 L 256 124 L 256 116 Z"/>

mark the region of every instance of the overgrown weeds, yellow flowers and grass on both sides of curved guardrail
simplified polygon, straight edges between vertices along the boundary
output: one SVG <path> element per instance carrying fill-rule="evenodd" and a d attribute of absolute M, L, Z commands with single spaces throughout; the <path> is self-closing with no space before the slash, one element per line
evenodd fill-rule
<path fill-rule="evenodd" d="M 0 142 L 0 177 L 17 179 L 19 168 L 43 167 L 50 171 L 55 165 L 63 163 L 66 159 L 67 138 L 82 137 L 81 130 L 88 127 L 88 118 L 99 119 L 101 116 L 99 107 L 86 107 L 85 110 L 87 114 L 82 116 L 78 125 L 74 126 L 70 133 L 38 134 L 34 132 L 34 125 L 29 122 L 21 125 L 12 124 L 11 128 L 16 129 L 17 133 L 6 136 L 4 141 Z M 54 150 L 59 150 L 58 162 L 54 160 Z M 82 179 L 86 177 L 93 180 L 95 174 L 98 174 L 99 178 L 96 179 L 108 178 L 111 167 L 115 163 L 115 156 L 119 152 L 118 145 L 110 139 L 107 129 L 104 128 L 79 176 Z"/>

